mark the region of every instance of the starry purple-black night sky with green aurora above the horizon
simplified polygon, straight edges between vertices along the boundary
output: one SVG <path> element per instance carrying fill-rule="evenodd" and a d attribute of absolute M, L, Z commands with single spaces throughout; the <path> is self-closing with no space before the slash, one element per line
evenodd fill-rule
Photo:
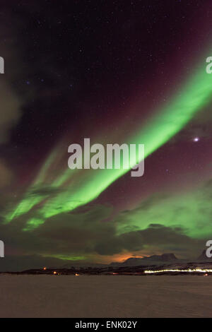
<path fill-rule="evenodd" d="M 1 1 L 1 271 L 201 254 L 211 36 L 211 1 Z M 84 138 L 144 143 L 143 177 L 70 170 Z"/>

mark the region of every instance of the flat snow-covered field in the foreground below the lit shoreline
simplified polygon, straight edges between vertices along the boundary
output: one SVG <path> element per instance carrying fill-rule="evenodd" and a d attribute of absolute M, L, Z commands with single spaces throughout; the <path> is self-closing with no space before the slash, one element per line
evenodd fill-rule
<path fill-rule="evenodd" d="M 0 275 L 0 317 L 212 317 L 212 276 Z"/>

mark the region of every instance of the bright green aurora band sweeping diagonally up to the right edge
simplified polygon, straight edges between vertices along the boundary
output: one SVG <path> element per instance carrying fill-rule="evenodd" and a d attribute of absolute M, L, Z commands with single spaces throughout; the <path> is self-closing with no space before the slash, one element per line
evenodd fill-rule
<path fill-rule="evenodd" d="M 182 85 L 177 95 L 164 107 L 155 112 L 154 117 L 148 119 L 145 126 L 129 137 L 126 143 L 144 144 L 145 158 L 151 155 L 160 146 L 163 146 L 175 134 L 177 134 L 188 122 L 194 114 L 208 105 L 212 97 L 212 81 L 211 76 L 206 73 L 205 67 L 202 65 L 196 69 L 196 72 L 189 80 Z M 42 184 L 45 175 L 49 171 L 54 158 L 56 158 L 58 148 L 47 158 L 45 165 L 42 167 L 37 176 L 32 189 L 37 184 Z M 139 160 L 141 161 L 141 160 Z M 14 218 L 28 213 L 33 207 L 39 204 L 35 217 L 29 217 L 26 227 L 23 230 L 33 230 L 47 218 L 51 218 L 59 213 L 73 211 L 78 206 L 83 206 L 97 198 L 102 191 L 107 189 L 110 184 L 122 177 L 129 170 L 82 170 L 82 176 L 79 183 L 74 185 L 69 182 L 65 184 L 67 179 L 73 178 L 79 170 L 67 170 L 64 174 L 57 177 L 50 187 L 61 188 L 53 197 L 48 194 L 30 194 L 30 190 L 25 194 L 23 200 L 20 201 L 13 213 L 5 216 L 6 223 L 11 222 Z M 64 185 L 65 184 L 65 185 Z M 43 184 L 43 186 L 45 186 Z M 43 200 L 45 200 L 43 202 Z"/>

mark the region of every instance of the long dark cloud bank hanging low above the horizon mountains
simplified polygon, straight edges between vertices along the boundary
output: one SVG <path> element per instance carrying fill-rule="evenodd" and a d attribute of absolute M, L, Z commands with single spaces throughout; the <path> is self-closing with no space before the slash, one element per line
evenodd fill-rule
<path fill-rule="evenodd" d="M 1 269 L 10 266 L 16 270 L 28 266 L 26 256 L 31 256 L 31 266 L 40 265 L 49 257 L 59 258 L 55 263 L 59 266 L 77 257 L 84 257 L 88 261 L 89 255 L 112 256 L 123 252 L 145 252 L 157 248 L 160 252 L 174 251 L 180 256 L 198 255 L 206 240 L 192 239 L 184 234 L 183 227 L 165 227 L 160 224 L 150 224 L 143 230 L 129 230 L 122 234 L 117 233 L 117 223 L 104 222 L 111 213 L 108 206 L 90 205 L 84 211 L 79 208 L 73 213 L 65 213 L 49 218 L 43 225 L 30 232 L 22 229 L 28 218 L 17 218 L 7 225 L 0 226 L 1 239 L 6 246 L 6 257 Z M 13 259 L 11 258 L 11 253 Z M 16 261 L 17 256 L 17 261 Z M 23 263 L 21 260 L 23 257 Z M 67 258 L 67 259 L 65 259 Z M 13 264 L 13 262 L 15 262 Z M 83 261 L 81 261 L 83 264 Z M 5 265 L 8 264 L 8 265 Z M 74 265 L 74 264 L 73 264 Z M 29 265 L 30 266 L 30 265 Z"/>

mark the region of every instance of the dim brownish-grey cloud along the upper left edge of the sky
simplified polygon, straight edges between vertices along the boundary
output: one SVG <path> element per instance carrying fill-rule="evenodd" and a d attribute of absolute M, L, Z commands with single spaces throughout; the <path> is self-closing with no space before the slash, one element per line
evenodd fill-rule
<path fill-rule="evenodd" d="M 8 24 L 13 22 L 13 25 Z M 16 31 L 22 23 L 13 16 L 11 10 L 1 13 L 0 57 L 4 58 L 4 73 L 0 74 L 0 188 L 11 185 L 13 165 L 8 166 L 4 155 L 5 147 L 11 141 L 13 129 L 23 115 L 26 95 L 16 84 L 23 77 L 23 64 Z M 2 152 L 3 151 L 3 152 Z M 4 156 L 4 157 L 3 157 Z M 11 167 L 11 168 L 10 168 Z"/>

